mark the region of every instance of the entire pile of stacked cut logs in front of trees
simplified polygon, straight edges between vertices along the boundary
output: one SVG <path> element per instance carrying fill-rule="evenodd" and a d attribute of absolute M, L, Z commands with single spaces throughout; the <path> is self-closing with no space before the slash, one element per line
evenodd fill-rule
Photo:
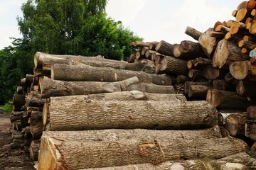
<path fill-rule="evenodd" d="M 186 28 L 196 42 L 132 42 L 127 62 L 36 52 L 11 145 L 38 169 L 255 168 L 252 2 L 204 33 Z"/>

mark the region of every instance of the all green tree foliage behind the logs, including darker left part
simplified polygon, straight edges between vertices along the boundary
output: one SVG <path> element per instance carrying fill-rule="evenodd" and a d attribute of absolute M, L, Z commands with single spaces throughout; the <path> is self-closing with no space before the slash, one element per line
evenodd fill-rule
<path fill-rule="evenodd" d="M 107 0 L 27 0 L 18 28 L 23 38 L 0 51 L 0 103 L 11 99 L 20 79 L 33 74 L 37 51 L 56 55 L 103 55 L 123 60 L 142 40 L 122 22 L 107 18 Z"/>

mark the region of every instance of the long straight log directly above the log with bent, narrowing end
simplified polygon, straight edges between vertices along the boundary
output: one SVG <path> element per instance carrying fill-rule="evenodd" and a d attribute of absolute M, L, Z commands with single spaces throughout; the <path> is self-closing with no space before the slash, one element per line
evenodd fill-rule
<path fill-rule="evenodd" d="M 66 74 L 68 72 L 68 74 Z M 147 74 L 107 67 L 70 66 L 66 64 L 54 64 L 51 78 L 63 81 L 122 81 L 132 77 L 138 77 L 140 82 L 154 83 L 158 85 L 171 85 L 171 77 L 167 75 Z"/>

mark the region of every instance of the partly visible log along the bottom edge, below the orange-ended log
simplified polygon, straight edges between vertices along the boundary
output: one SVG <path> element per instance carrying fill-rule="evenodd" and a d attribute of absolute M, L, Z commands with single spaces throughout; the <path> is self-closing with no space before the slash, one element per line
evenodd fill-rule
<path fill-rule="evenodd" d="M 242 170 L 255 167 L 255 159 L 245 152 L 233 154 L 222 159 L 194 159 L 185 161 L 151 162 L 146 164 L 130 164 L 124 166 L 110 166 L 104 168 L 79 169 L 79 170 L 156 170 L 156 169 L 221 169 L 221 170 Z"/>

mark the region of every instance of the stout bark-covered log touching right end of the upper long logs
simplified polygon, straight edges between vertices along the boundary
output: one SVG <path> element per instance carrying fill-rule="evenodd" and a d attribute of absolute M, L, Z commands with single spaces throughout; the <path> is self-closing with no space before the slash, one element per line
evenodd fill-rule
<path fill-rule="evenodd" d="M 179 60 L 175 57 L 165 56 L 163 60 L 161 60 L 161 68 L 160 71 L 166 74 L 188 74 L 188 67 L 186 66 L 186 60 Z"/>

